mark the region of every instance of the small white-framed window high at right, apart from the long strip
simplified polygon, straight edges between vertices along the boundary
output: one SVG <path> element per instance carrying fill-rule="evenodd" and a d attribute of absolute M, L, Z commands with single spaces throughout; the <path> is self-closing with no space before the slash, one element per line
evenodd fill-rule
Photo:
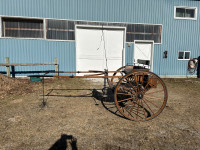
<path fill-rule="evenodd" d="M 197 19 L 197 8 L 196 7 L 174 7 L 174 18 L 175 19 Z"/>

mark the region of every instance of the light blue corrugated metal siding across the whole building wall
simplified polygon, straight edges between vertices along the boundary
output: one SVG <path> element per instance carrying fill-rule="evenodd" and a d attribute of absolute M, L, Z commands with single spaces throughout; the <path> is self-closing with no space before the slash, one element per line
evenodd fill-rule
<path fill-rule="evenodd" d="M 198 19 L 174 19 L 174 6 L 198 7 Z M 179 50 L 191 51 L 191 57 L 200 56 L 199 8 L 200 3 L 191 0 L 0 1 L 0 15 L 6 16 L 162 24 L 162 44 L 154 46 L 154 72 L 159 75 L 186 74 L 187 61 L 177 60 Z M 0 44 L 0 62 L 6 56 L 11 57 L 12 62 L 49 62 L 58 56 L 63 65 L 61 69 L 75 69 L 74 42 L 0 39 Z M 126 45 L 126 64 L 133 61 L 133 47 L 133 44 Z M 165 50 L 168 50 L 167 59 L 163 58 Z"/>

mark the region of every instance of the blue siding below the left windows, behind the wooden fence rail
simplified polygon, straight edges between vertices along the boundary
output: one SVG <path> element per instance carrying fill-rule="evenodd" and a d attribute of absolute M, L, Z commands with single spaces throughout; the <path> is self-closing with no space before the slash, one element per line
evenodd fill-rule
<path fill-rule="evenodd" d="M 0 63 L 5 57 L 10 63 L 48 63 L 58 58 L 59 69 L 75 71 L 75 42 L 54 42 L 43 40 L 0 39 Z M 15 71 L 45 71 L 54 70 L 49 66 L 17 66 Z M 0 71 L 5 71 L 0 67 Z"/>

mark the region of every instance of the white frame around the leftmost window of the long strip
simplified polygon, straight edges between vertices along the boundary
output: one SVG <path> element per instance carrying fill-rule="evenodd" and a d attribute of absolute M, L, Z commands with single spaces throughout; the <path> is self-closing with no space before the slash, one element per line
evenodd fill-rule
<path fill-rule="evenodd" d="M 21 20 L 39 20 L 39 21 L 42 21 L 42 32 L 43 32 L 43 36 L 42 37 L 14 37 L 14 36 L 5 36 L 4 35 L 4 33 L 5 33 L 5 31 L 3 31 L 3 30 L 5 30 L 4 28 L 3 28 L 3 23 L 4 23 L 4 21 L 3 21 L 3 19 L 21 19 Z M 15 16 L 1 16 L 1 21 L 0 21 L 0 23 L 1 23 L 1 38 L 7 38 L 7 39 L 10 39 L 10 38 L 16 38 L 16 39 L 39 39 L 39 40 L 44 40 L 44 35 L 45 35 L 45 33 L 44 33 L 44 20 L 45 19 L 42 19 L 42 18 L 33 18 L 33 17 L 15 17 Z"/>

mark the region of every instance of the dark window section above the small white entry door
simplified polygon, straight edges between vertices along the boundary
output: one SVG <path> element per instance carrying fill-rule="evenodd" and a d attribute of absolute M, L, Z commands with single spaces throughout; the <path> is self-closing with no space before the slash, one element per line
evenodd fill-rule
<path fill-rule="evenodd" d="M 154 43 L 161 43 L 162 25 L 128 24 L 127 42 L 135 40 L 153 40 Z"/>

